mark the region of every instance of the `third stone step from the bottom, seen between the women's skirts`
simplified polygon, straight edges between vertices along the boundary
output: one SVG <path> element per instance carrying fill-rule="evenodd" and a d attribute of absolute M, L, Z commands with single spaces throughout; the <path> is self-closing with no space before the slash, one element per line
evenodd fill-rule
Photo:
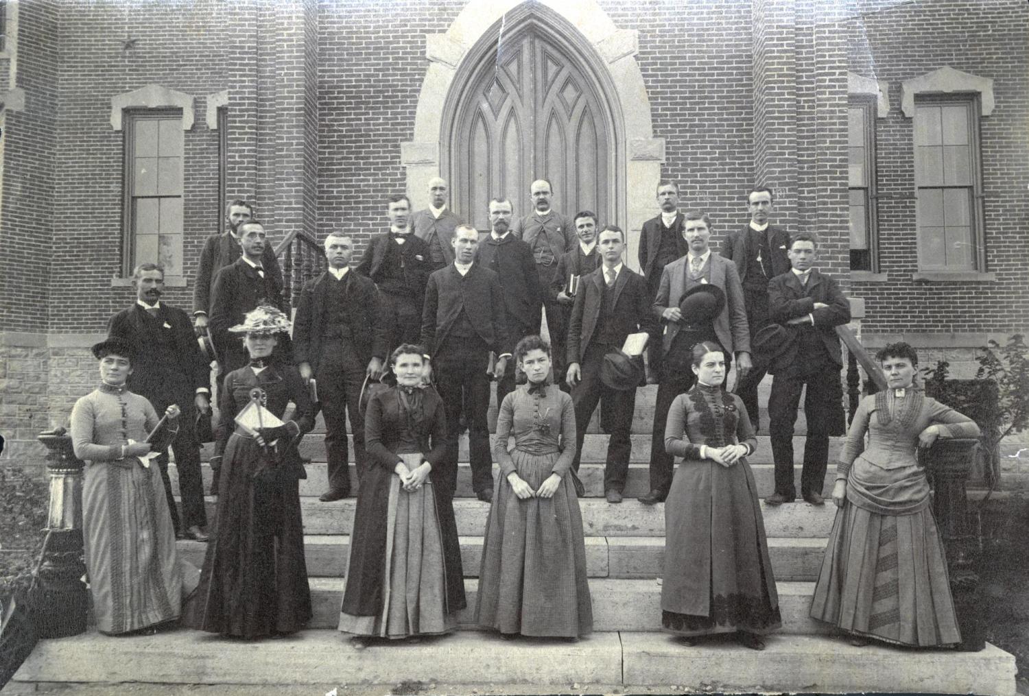
<path fill-rule="evenodd" d="M 821 567 L 826 539 L 772 537 L 769 540 L 772 570 L 777 580 L 814 581 Z M 466 578 L 477 578 L 483 537 L 461 537 L 461 561 Z M 207 544 L 179 541 L 180 555 L 200 567 Z M 312 578 L 343 577 L 349 535 L 309 535 L 304 538 L 304 556 Z M 587 537 L 586 565 L 590 578 L 653 579 L 662 574 L 665 557 L 663 537 Z"/>

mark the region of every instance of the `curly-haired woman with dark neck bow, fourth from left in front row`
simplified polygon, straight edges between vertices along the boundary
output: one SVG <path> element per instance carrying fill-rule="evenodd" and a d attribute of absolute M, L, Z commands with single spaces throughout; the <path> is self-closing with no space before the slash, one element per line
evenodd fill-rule
<path fill-rule="evenodd" d="M 546 381 L 546 341 L 523 338 L 514 358 L 528 382 L 504 397 L 497 414 L 493 454 L 501 476 L 484 535 L 475 621 L 505 637 L 577 638 L 593 630 L 593 606 L 570 471 L 575 410 L 571 397 Z"/>

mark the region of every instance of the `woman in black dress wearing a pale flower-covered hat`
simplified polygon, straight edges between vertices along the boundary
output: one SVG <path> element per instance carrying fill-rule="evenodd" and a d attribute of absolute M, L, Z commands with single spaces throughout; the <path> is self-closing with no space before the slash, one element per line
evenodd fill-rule
<path fill-rule="evenodd" d="M 245 334 L 250 364 L 225 376 L 218 399 L 218 522 L 190 623 L 244 638 L 292 633 L 311 619 L 298 483 L 307 475 L 296 450 L 314 426 L 311 398 L 296 368 L 271 361 L 278 336 L 289 330 L 284 314 L 259 306 L 229 330 Z M 281 418 L 289 402 L 293 419 L 282 426 L 236 422 L 258 403 Z"/>

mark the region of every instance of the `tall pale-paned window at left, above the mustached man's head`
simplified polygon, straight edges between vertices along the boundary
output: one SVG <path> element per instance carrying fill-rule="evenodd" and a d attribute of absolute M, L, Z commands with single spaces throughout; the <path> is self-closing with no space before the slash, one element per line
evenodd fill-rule
<path fill-rule="evenodd" d="M 182 112 L 127 110 L 122 276 L 146 262 L 182 276 Z"/>

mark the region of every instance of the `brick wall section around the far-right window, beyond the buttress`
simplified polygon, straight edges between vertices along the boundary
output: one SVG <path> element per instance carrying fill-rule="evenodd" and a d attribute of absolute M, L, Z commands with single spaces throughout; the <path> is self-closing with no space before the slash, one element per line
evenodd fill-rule
<path fill-rule="evenodd" d="M 861 3 L 847 20 L 849 68 L 887 80 L 890 113 L 876 119 L 879 240 L 886 283 L 855 283 L 870 332 L 1013 332 L 1029 326 L 1029 5 L 1010 1 Z M 912 119 L 900 84 L 943 66 L 993 78 L 996 108 L 981 118 L 986 270 L 994 283 L 915 282 Z"/>

